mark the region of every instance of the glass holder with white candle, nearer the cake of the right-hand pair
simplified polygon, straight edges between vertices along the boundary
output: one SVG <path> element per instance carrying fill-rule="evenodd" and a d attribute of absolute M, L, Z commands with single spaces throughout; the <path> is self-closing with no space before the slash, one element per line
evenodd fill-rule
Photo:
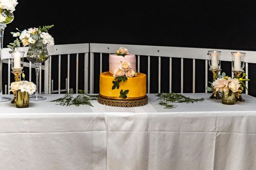
<path fill-rule="evenodd" d="M 208 51 L 208 64 L 211 70 L 220 69 L 220 52 L 221 51 Z"/>

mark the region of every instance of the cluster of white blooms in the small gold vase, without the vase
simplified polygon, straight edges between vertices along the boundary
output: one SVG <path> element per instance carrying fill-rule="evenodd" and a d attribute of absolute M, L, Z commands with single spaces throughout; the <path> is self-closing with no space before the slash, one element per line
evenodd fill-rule
<path fill-rule="evenodd" d="M 33 82 L 23 80 L 20 82 L 12 82 L 10 88 L 10 91 L 13 93 L 20 90 L 21 92 L 28 92 L 28 94 L 31 95 L 36 91 L 37 86 Z"/>

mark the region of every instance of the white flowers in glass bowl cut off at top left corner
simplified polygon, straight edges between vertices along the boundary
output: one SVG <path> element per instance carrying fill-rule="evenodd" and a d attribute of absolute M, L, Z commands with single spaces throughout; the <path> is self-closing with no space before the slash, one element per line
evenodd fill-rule
<path fill-rule="evenodd" d="M 17 4 L 17 0 L 0 0 L 0 23 L 8 24 L 12 22 L 13 12 Z"/>

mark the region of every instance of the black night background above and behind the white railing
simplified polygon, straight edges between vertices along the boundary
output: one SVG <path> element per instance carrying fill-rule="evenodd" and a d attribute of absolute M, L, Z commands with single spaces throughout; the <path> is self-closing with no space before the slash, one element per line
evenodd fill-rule
<path fill-rule="evenodd" d="M 15 28 L 23 30 L 54 24 L 54 28 L 49 33 L 53 35 L 57 45 L 109 43 L 256 51 L 255 1 L 19 0 L 18 2 L 14 12 L 15 19 L 5 29 L 4 47 L 13 41 L 10 32 L 14 32 Z M 96 55 L 96 68 L 97 57 Z M 142 62 L 147 62 L 147 59 L 143 58 Z M 152 58 L 151 63 L 154 62 L 158 62 L 156 57 Z M 168 69 L 169 65 L 166 63 L 168 59 L 163 58 L 162 70 Z M 231 76 L 231 70 L 227 69 L 231 68 L 231 63 L 222 62 L 221 65 L 223 71 Z M 204 74 L 200 75 L 204 71 L 204 61 L 197 60 L 196 66 L 196 92 L 204 92 L 204 78 L 201 78 Z M 173 78 L 176 80 L 173 82 L 173 91 L 180 92 L 180 59 L 173 59 L 173 67 Z M 184 67 L 189 68 L 184 70 L 184 92 L 192 92 L 192 60 L 184 59 Z M 157 70 L 157 68 L 152 69 L 152 72 Z M 147 73 L 147 67 L 141 66 L 141 72 Z M 253 89 L 256 81 L 252 79 L 256 77 L 253 76 L 255 73 L 255 64 L 250 64 L 249 94 L 253 96 L 256 96 L 256 90 Z M 154 77 L 157 75 L 156 72 L 151 78 L 155 80 Z M 162 77 L 164 76 L 165 72 L 162 71 Z M 208 77 L 211 78 L 210 73 Z M 157 92 L 158 89 L 158 82 L 153 80 L 152 93 Z M 96 78 L 95 92 L 98 92 L 97 81 Z M 166 78 L 162 81 L 169 80 Z M 82 88 L 82 84 L 83 81 L 79 82 L 79 87 Z M 168 88 L 168 83 L 162 82 L 161 91 L 168 91 Z"/>

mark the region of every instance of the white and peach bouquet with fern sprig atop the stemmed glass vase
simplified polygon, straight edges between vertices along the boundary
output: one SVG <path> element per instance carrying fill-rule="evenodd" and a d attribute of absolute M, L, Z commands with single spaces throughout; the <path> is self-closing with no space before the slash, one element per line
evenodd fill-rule
<path fill-rule="evenodd" d="M 7 47 L 9 47 L 12 51 L 15 51 L 15 48 L 20 47 L 22 43 L 23 47 L 25 46 L 35 46 L 37 48 L 45 46 L 45 45 L 54 45 L 54 38 L 48 33 L 48 30 L 52 28 L 54 25 L 47 25 L 39 28 L 29 28 L 28 30 L 20 31 L 19 32 L 11 32 L 13 37 L 17 37 L 13 43 L 9 43 Z"/>

